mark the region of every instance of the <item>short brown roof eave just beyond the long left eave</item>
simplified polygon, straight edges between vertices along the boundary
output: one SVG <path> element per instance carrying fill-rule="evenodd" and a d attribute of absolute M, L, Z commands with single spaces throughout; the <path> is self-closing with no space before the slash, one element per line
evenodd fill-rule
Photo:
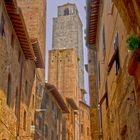
<path fill-rule="evenodd" d="M 33 50 L 34 50 L 34 53 L 35 53 L 35 56 L 36 56 L 36 62 L 35 62 L 36 67 L 37 68 L 45 68 L 38 40 L 37 39 L 32 39 L 31 42 L 32 42 Z"/>

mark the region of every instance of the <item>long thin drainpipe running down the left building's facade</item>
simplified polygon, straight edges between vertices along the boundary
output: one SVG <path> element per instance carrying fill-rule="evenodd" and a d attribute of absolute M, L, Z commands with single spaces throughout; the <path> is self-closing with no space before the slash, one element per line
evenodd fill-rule
<path fill-rule="evenodd" d="M 19 138 L 19 130 L 20 130 L 20 105 L 21 105 L 21 93 L 22 93 L 22 76 L 23 76 L 23 57 L 21 54 L 21 67 L 20 67 L 20 87 L 19 87 L 19 102 L 18 102 L 18 108 L 19 108 L 19 113 L 18 113 L 18 119 L 17 119 L 17 136 L 16 139 L 18 140 Z"/>

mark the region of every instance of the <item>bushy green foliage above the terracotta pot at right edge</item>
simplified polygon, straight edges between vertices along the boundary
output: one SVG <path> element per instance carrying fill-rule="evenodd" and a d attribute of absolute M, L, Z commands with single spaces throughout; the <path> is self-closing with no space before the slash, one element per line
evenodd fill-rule
<path fill-rule="evenodd" d="M 127 39 L 127 43 L 128 43 L 128 50 L 134 51 L 140 47 L 140 38 L 138 38 L 134 34 L 130 35 Z"/>

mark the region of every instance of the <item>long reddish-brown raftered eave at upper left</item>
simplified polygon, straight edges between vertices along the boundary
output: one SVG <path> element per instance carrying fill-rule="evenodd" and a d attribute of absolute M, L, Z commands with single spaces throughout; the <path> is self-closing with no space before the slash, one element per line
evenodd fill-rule
<path fill-rule="evenodd" d="M 4 3 L 25 58 L 35 60 L 34 50 L 20 8 L 17 7 L 15 0 L 4 0 Z"/>

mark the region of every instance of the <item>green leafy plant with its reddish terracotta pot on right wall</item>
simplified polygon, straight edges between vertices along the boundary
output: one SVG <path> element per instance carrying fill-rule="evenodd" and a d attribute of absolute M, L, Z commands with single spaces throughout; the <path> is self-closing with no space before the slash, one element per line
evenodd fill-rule
<path fill-rule="evenodd" d="M 128 50 L 132 53 L 128 64 L 128 73 L 134 75 L 137 69 L 138 62 L 140 62 L 140 38 L 136 35 L 130 35 L 127 39 Z"/>

